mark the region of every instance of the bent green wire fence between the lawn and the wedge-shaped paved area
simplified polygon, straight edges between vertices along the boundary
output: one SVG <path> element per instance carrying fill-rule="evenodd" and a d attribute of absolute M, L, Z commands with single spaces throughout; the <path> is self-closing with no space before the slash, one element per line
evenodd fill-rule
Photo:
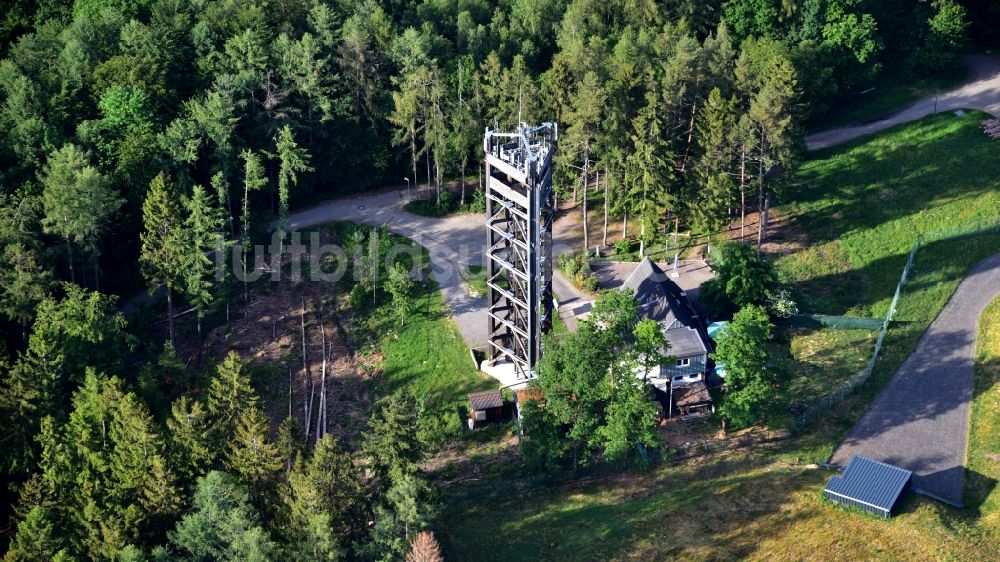
<path fill-rule="evenodd" d="M 906 284 L 906 279 L 910 275 L 910 270 L 913 269 L 913 260 L 916 258 L 917 251 L 920 249 L 921 245 L 930 242 L 939 242 L 941 240 L 958 240 L 962 238 L 981 236 L 984 234 L 997 233 L 1000 233 L 1000 219 L 976 221 L 924 234 L 918 234 L 917 239 L 913 242 L 913 246 L 910 248 L 910 254 L 906 258 L 906 266 L 903 267 L 903 273 L 899 276 L 899 283 L 896 284 L 896 292 L 892 296 L 892 302 L 889 304 L 889 310 L 885 314 L 885 319 L 882 320 L 881 326 L 876 326 L 879 328 L 878 339 L 875 341 L 875 350 L 872 352 L 872 356 L 868 360 L 868 364 L 865 365 L 864 369 L 858 371 L 856 374 L 852 375 L 846 381 L 837 386 L 836 390 L 810 405 L 805 412 L 796 417 L 795 430 L 800 431 L 804 427 L 816 421 L 822 414 L 839 404 L 844 398 L 853 393 L 859 386 L 868 382 L 868 379 L 871 378 L 872 373 L 875 371 L 875 363 L 878 361 L 879 352 L 882 351 L 882 343 L 885 341 L 885 334 L 889 330 L 889 323 L 892 322 L 892 318 L 896 314 L 896 305 L 899 304 L 899 296 L 903 291 L 903 285 Z"/>

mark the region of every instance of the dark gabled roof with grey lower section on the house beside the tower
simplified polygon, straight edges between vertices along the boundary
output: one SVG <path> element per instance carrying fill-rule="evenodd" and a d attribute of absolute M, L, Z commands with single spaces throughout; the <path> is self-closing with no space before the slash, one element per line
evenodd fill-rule
<path fill-rule="evenodd" d="M 622 283 L 623 291 L 632 291 L 639 301 L 639 313 L 663 327 L 670 342 L 670 354 L 676 357 L 708 353 L 708 335 L 691 306 L 691 301 L 676 283 L 653 260 L 645 257 Z"/>

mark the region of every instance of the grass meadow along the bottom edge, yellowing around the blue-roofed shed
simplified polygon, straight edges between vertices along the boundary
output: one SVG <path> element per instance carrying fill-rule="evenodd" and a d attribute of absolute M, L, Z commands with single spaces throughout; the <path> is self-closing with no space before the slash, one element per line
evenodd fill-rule
<path fill-rule="evenodd" d="M 1000 548 L 970 515 L 924 498 L 908 497 L 888 521 L 829 504 L 819 491 L 832 473 L 787 456 L 476 489 L 452 505 L 440 536 L 456 560 L 989 560 Z"/>

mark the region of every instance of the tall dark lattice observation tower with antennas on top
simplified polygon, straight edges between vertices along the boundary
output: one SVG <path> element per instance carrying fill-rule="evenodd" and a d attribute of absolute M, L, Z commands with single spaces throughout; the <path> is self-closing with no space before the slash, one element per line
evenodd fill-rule
<path fill-rule="evenodd" d="M 534 375 L 541 337 L 552 327 L 552 157 L 558 127 L 486 129 L 488 355 Z"/>

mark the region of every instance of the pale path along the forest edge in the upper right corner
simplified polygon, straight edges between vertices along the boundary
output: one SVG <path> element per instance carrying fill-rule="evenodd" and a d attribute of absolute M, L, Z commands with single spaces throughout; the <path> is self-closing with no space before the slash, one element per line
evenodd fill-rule
<path fill-rule="evenodd" d="M 806 147 L 818 150 L 838 145 L 900 123 L 916 121 L 935 111 L 978 109 L 1000 116 L 1000 56 L 973 55 L 963 59 L 972 79 L 954 90 L 926 97 L 884 119 L 838 127 L 806 137 Z"/>

